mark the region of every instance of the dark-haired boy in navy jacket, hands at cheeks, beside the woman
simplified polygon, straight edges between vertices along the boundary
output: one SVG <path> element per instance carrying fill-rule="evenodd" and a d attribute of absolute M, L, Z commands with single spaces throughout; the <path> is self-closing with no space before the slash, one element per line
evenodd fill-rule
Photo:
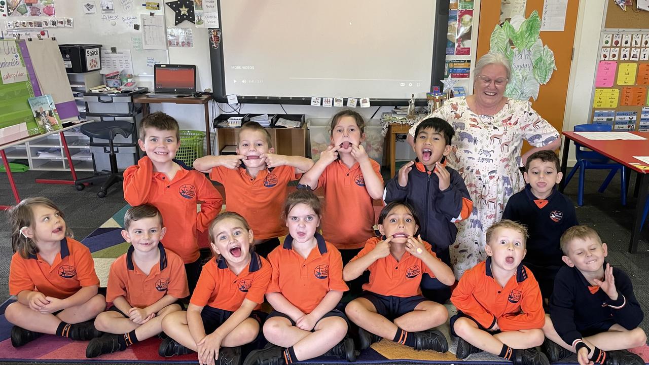
<path fill-rule="evenodd" d="M 423 120 L 415 131 L 413 150 L 417 159 L 404 164 L 386 186 L 385 201 L 410 203 L 422 218 L 422 240 L 429 242 L 437 257 L 450 266 L 448 246 L 455 242 L 455 222 L 471 214 L 473 202 L 458 171 L 447 166 L 450 141 L 455 131 L 441 118 Z M 414 167 L 414 168 L 413 168 Z M 444 303 L 450 288 L 429 275 L 422 278 L 424 297 Z"/>

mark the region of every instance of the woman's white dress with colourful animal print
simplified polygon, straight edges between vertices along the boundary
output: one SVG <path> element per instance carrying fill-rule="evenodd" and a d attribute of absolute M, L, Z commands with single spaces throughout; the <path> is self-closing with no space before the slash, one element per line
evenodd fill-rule
<path fill-rule="evenodd" d="M 465 97 L 454 97 L 430 116 L 448 121 L 455 129 L 448 166 L 463 177 L 473 210 L 459 221 L 458 236 L 450 246 L 456 277 L 486 259 L 485 232 L 502 212 L 511 195 L 524 188 L 519 170 L 523 140 L 541 147 L 559 138 L 548 121 L 528 101 L 509 99 L 493 116 L 471 111 Z M 417 125 L 410 129 L 414 136 Z"/>

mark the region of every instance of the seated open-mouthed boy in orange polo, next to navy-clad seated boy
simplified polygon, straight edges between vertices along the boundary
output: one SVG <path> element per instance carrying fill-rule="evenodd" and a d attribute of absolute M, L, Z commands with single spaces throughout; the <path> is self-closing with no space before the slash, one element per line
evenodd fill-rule
<path fill-rule="evenodd" d="M 527 230 L 510 220 L 486 232 L 487 260 L 465 271 L 450 298 L 458 314 L 450 319 L 459 336 L 456 357 L 487 351 L 516 365 L 549 365 L 543 343 L 543 299 L 525 257 Z"/>

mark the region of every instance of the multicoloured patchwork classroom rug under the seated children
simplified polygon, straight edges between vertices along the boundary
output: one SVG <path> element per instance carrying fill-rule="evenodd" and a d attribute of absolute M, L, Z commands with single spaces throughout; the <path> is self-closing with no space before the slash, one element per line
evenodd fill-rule
<path fill-rule="evenodd" d="M 82 242 L 86 244 L 95 259 L 95 269 L 102 286 L 106 286 L 108 269 L 110 264 L 125 253 L 128 244 L 121 236 L 123 217 L 129 206 L 119 210 L 106 223 L 101 225 Z M 380 210 L 380 207 L 377 207 Z M 206 236 L 199 240 L 201 247 L 208 247 Z M 164 358 L 158 355 L 158 346 L 161 340 L 157 337 L 149 338 L 129 349 L 108 355 L 102 355 L 95 359 L 86 359 L 87 341 L 71 341 L 51 335 L 43 335 L 18 349 L 11 345 L 9 338 L 12 325 L 5 320 L 5 308 L 14 299 L 9 299 L 0 305 L 0 362 L 41 362 L 45 364 L 67 364 L 67 363 L 160 363 L 166 364 L 196 364 L 195 354 L 180 357 Z M 447 305 L 450 315 L 456 313 L 452 305 Z M 419 363 L 419 364 L 511 364 L 495 355 L 476 353 L 466 360 L 458 360 L 455 356 L 457 340 L 451 338 L 448 321 L 439 327 L 439 330 L 447 336 L 450 351 L 447 353 L 436 353 L 434 351 L 415 351 L 410 347 L 395 344 L 389 340 L 382 340 L 373 344 L 371 348 L 362 351 L 356 360 L 359 364 L 386 364 L 386 363 Z M 645 362 L 649 360 L 649 347 L 643 346 L 631 350 L 643 357 Z M 347 364 L 345 360 L 334 357 L 318 357 L 303 362 L 304 364 Z M 576 357 L 557 362 L 556 364 L 576 364 Z"/>

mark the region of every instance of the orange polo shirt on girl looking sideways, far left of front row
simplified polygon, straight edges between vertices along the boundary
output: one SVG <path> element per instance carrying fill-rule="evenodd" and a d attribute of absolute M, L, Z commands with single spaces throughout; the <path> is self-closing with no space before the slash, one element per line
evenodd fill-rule
<path fill-rule="evenodd" d="M 99 285 L 90 249 L 69 237 L 62 239 L 60 245 L 61 251 L 51 265 L 38 253 L 29 258 L 14 253 L 9 268 L 9 295 L 32 290 L 66 299 L 84 286 Z"/>

